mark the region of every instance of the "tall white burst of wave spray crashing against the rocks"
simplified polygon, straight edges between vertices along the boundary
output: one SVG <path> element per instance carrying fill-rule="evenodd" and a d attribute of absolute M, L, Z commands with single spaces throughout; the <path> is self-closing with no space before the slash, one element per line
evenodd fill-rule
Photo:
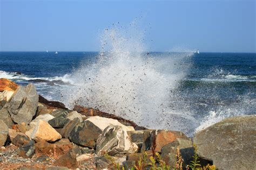
<path fill-rule="evenodd" d="M 147 128 L 187 132 L 188 126 L 179 125 L 184 120 L 193 124 L 189 123 L 193 117 L 173 111 L 170 96 L 186 76 L 193 53 L 151 54 L 142 34 L 130 33 L 106 29 L 97 61 L 72 74 L 77 86 L 64 89 L 62 101 L 70 108 L 75 104 L 97 108 Z"/>

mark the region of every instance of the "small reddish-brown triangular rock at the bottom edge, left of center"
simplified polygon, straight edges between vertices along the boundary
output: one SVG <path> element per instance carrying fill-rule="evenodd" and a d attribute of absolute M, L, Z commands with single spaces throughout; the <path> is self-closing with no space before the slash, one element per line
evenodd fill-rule
<path fill-rule="evenodd" d="M 62 155 L 58 160 L 56 160 L 55 165 L 65 166 L 68 168 L 78 168 L 77 164 L 77 153 L 71 149 L 68 153 Z"/>

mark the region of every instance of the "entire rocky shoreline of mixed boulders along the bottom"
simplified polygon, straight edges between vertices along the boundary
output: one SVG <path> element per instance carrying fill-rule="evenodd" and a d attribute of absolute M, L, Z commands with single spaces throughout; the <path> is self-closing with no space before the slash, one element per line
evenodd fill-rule
<path fill-rule="evenodd" d="M 93 108 L 48 101 L 0 79 L 1 169 L 255 169 L 256 115 L 188 138 Z"/>

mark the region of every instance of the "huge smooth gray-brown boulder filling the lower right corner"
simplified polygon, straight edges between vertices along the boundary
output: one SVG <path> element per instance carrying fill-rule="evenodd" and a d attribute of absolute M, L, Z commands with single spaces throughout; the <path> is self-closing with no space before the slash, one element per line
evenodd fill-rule
<path fill-rule="evenodd" d="M 218 169 L 256 167 L 256 115 L 224 119 L 196 133 L 194 143 L 201 158 Z"/>

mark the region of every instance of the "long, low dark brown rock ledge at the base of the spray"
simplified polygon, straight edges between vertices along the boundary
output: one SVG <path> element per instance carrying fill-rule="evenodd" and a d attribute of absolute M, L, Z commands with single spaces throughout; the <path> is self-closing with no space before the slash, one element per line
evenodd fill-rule
<path fill-rule="evenodd" d="M 107 113 L 99 111 L 97 109 L 86 108 L 86 107 L 82 107 L 80 105 L 75 105 L 73 110 L 76 110 L 77 112 L 79 112 L 80 114 L 85 115 L 85 116 L 100 116 L 100 117 L 116 119 L 118 122 L 122 123 L 125 126 L 133 126 L 133 128 L 135 130 L 145 130 L 146 129 L 142 126 L 138 126 L 136 123 L 134 123 L 132 121 L 126 120 L 122 117 L 118 117 L 113 114 L 107 114 Z"/>

